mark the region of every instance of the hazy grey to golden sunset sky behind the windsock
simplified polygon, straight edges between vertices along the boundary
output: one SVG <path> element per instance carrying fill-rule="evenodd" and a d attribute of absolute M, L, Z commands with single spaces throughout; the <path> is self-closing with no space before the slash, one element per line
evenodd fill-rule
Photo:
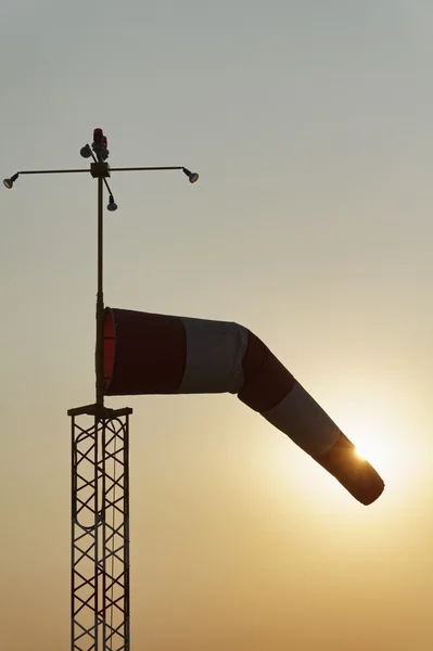
<path fill-rule="evenodd" d="M 3 177 L 117 175 L 105 303 L 255 332 L 385 480 L 365 508 L 233 396 L 131 417 L 131 648 L 433 648 L 433 5 L 5 0 Z M 0 195 L 0 636 L 69 649 L 68 408 L 93 400 L 95 184 Z"/>

